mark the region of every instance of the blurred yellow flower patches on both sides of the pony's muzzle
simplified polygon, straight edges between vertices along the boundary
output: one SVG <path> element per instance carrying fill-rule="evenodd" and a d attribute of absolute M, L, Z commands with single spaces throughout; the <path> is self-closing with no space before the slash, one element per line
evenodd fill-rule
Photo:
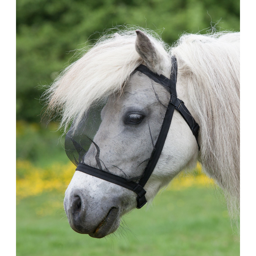
<path fill-rule="evenodd" d="M 29 161 L 17 160 L 16 169 L 16 196 L 17 200 L 36 196 L 46 191 L 57 190 L 64 194 L 72 176 L 75 172 L 75 165 L 72 163 L 54 163 L 47 168 L 38 168 Z M 191 174 L 182 172 L 175 178 L 168 190 L 180 190 L 189 187 L 202 187 L 213 184 L 213 180 L 202 173 L 201 164 L 197 163 L 194 172 Z"/>

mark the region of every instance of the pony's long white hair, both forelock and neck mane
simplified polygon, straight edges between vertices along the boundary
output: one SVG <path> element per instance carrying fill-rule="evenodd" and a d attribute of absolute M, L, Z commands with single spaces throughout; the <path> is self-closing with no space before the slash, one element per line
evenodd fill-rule
<path fill-rule="evenodd" d="M 186 34 L 170 48 L 154 32 L 143 31 L 166 59 L 175 55 L 179 61 L 178 74 L 188 84 L 190 103 L 199 117 L 200 161 L 224 189 L 232 217 L 239 211 L 240 195 L 240 33 Z M 48 110 L 59 112 L 65 131 L 75 117 L 78 124 L 92 103 L 122 91 L 131 72 L 142 63 L 135 40 L 135 29 L 103 36 L 46 91 Z"/>

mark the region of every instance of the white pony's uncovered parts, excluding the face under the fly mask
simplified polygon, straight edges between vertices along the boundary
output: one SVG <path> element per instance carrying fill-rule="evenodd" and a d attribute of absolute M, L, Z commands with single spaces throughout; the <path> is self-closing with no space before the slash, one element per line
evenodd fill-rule
<path fill-rule="evenodd" d="M 49 112 L 62 116 L 60 126 L 66 132 L 72 121 L 75 127 L 79 124 L 97 100 L 122 94 L 140 64 L 169 77 L 175 56 L 177 95 L 200 126 L 201 150 L 185 120 L 174 111 L 164 148 L 144 187 L 146 199 L 152 201 L 160 188 L 199 161 L 223 189 L 231 219 L 236 218 L 240 203 L 240 33 L 184 34 L 169 47 L 153 31 L 136 32 L 123 30 L 101 37 L 66 68 L 45 93 Z M 101 238 L 114 232 L 120 217 L 136 207 L 136 194 L 76 171 L 64 207 L 71 228 Z"/>

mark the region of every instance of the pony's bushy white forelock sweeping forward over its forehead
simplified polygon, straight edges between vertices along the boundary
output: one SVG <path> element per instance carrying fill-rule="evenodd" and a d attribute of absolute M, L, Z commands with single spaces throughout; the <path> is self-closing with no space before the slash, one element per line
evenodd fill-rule
<path fill-rule="evenodd" d="M 160 36 L 153 31 L 144 29 L 144 32 L 168 58 L 167 46 Z M 102 36 L 46 90 L 43 98 L 48 105 L 47 112 L 61 116 L 60 128 L 64 132 L 72 121 L 76 127 L 92 104 L 122 92 L 132 71 L 143 61 L 135 50 L 135 40 L 135 29 Z"/>

